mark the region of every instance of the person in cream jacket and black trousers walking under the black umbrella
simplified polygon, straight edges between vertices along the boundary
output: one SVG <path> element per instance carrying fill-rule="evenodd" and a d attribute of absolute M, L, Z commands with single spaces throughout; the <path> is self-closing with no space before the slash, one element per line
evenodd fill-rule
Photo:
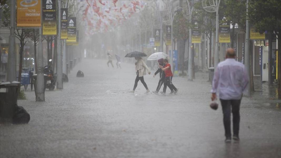
<path fill-rule="evenodd" d="M 148 89 L 146 83 L 144 82 L 143 76 L 146 75 L 146 70 L 148 71 L 148 74 L 150 75 L 150 70 L 142 58 L 135 58 L 135 59 L 137 60 L 137 62 L 135 63 L 137 77 L 135 79 L 134 88 L 130 92 L 135 93 L 135 89 L 137 88 L 138 82 L 140 80 L 140 82 L 144 85 L 144 87 L 146 89 L 145 93 L 148 93 L 149 89 Z"/>

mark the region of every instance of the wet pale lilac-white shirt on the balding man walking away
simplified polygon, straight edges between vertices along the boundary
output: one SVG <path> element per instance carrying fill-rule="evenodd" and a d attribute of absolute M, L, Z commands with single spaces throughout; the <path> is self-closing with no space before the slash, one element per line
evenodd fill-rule
<path fill-rule="evenodd" d="M 211 93 L 219 92 L 219 98 L 223 100 L 239 100 L 248 82 L 243 63 L 228 58 L 217 65 Z"/>

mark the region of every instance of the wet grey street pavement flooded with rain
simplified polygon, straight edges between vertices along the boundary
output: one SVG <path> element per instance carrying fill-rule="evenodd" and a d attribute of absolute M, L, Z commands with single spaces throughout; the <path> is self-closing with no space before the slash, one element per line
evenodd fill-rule
<path fill-rule="evenodd" d="M 134 95 L 134 65 L 121 66 L 85 59 L 64 90 L 46 90 L 46 102 L 27 90 L 18 104 L 31 120 L 0 126 L 0 157 L 281 157 L 280 100 L 260 92 L 243 98 L 241 140 L 225 144 L 221 107 L 209 107 L 208 74 L 196 73 L 193 82 L 174 77 L 179 93 L 165 97 L 152 93 L 159 76 L 146 75 L 151 93 L 139 82 Z M 84 78 L 76 78 L 78 70 Z"/>

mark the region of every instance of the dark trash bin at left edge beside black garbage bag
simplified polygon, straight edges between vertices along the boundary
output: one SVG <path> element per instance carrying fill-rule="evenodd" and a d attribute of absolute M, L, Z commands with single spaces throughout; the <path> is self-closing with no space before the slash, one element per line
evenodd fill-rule
<path fill-rule="evenodd" d="M 12 123 L 17 104 L 19 85 L 17 81 L 0 83 L 0 122 Z"/>

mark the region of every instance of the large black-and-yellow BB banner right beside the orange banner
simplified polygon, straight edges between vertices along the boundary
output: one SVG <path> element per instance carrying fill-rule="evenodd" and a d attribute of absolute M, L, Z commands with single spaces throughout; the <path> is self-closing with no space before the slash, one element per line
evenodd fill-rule
<path fill-rule="evenodd" d="M 56 1 L 42 0 L 43 35 L 56 35 Z"/>

